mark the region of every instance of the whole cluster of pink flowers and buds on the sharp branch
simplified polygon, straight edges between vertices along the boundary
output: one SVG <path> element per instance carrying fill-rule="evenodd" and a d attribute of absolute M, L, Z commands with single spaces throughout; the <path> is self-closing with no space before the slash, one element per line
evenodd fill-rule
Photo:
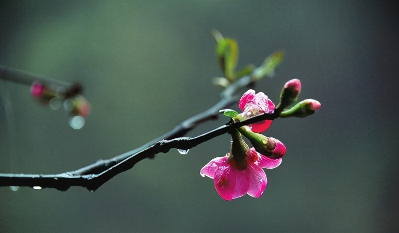
<path fill-rule="evenodd" d="M 298 79 L 287 82 L 281 92 L 278 108 L 288 107 L 296 101 L 300 90 L 301 83 Z M 302 105 L 300 105 L 301 103 Z M 291 110 L 292 113 L 283 112 L 282 115 L 286 117 L 289 114 L 298 117 L 309 116 L 321 106 L 314 100 L 306 100 L 301 103 L 296 105 L 299 107 Z M 248 90 L 243 94 L 238 108 L 242 111 L 238 115 L 240 118 L 262 113 L 273 114 L 276 110 L 276 106 L 264 93 L 255 94 L 254 90 Z M 260 134 L 271 123 L 272 120 L 263 120 L 232 130 L 230 132 L 232 136 L 230 152 L 223 157 L 212 159 L 200 170 L 202 176 L 213 179 L 217 193 L 224 200 L 231 201 L 245 194 L 258 198 L 263 194 L 267 186 L 263 168 L 278 167 L 286 153 L 286 147 L 281 141 Z M 252 148 L 249 148 L 241 135 L 244 135 L 252 143 Z"/>

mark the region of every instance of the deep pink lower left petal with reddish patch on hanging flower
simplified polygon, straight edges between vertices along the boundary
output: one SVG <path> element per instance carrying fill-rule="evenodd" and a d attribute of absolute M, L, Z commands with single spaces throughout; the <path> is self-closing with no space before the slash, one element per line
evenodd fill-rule
<path fill-rule="evenodd" d="M 226 201 L 231 201 L 236 187 L 236 171 L 229 165 L 219 166 L 215 170 L 213 184 L 219 196 Z"/>

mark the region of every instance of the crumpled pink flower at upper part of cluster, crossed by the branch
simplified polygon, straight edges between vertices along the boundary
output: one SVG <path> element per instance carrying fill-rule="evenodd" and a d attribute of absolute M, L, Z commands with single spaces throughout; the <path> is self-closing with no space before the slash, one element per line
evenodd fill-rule
<path fill-rule="evenodd" d="M 256 116 L 261 113 L 273 113 L 274 104 L 273 102 L 263 93 L 259 92 L 255 95 L 255 91 L 250 89 L 242 95 L 238 108 L 242 111 L 241 116 L 246 118 L 250 116 Z M 253 124 L 250 124 L 253 132 L 263 132 L 271 124 L 272 120 L 263 120 Z"/>

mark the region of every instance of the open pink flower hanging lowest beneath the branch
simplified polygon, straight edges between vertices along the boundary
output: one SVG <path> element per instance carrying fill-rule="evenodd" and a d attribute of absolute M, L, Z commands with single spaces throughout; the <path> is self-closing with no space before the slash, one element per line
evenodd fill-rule
<path fill-rule="evenodd" d="M 213 184 L 221 198 L 227 201 L 248 194 L 260 197 L 267 185 L 262 168 L 272 169 L 281 164 L 280 159 L 270 159 L 250 148 L 246 154 L 246 167 L 238 169 L 230 153 L 212 159 L 200 171 L 201 176 L 213 179 Z"/>

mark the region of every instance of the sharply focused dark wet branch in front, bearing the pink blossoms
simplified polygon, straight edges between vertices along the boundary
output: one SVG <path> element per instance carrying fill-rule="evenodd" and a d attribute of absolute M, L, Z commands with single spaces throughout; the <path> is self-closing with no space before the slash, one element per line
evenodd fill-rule
<path fill-rule="evenodd" d="M 40 188 L 55 188 L 58 190 L 67 190 L 71 186 L 81 186 L 87 188 L 88 190 L 94 191 L 105 182 L 110 180 L 112 177 L 121 172 L 131 169 L 136 163 L 145 158 L 152 157 L 158 153 L 167 153 L 170 149 L 173 148 L 188 150 L 216 136 L 228 133 L 228 131 L 232 128 L 241 127 L 243 125 L 265 119 L 275 118 L 277 118 L 277 116 L 274 114 L 260 114 L 258 116 L 247 118 L 241 122 L 222 125 L 197 137 L 178 137 L 171 140 L 160 140 L 143 150 L 130 154 L 124 160 L 111 167 L 109 167 L 109 163 L 106 162 L 106 160 L 88 166 L 91 167 L 92 170 L 94 170 L 95 168 L 100 169 L 109 167 L 97 174 L 81 174 L 79 171 L 88 170 L 85 168 L 74 172 L 65 172 L 56 175 L 0 174 L 0 186 L 28 186 Z M 126 153 L 126 155 L 127 154 L 128 153 Z M 123 154 L 115 158 L 123 157 L 126 155 Z"/>

